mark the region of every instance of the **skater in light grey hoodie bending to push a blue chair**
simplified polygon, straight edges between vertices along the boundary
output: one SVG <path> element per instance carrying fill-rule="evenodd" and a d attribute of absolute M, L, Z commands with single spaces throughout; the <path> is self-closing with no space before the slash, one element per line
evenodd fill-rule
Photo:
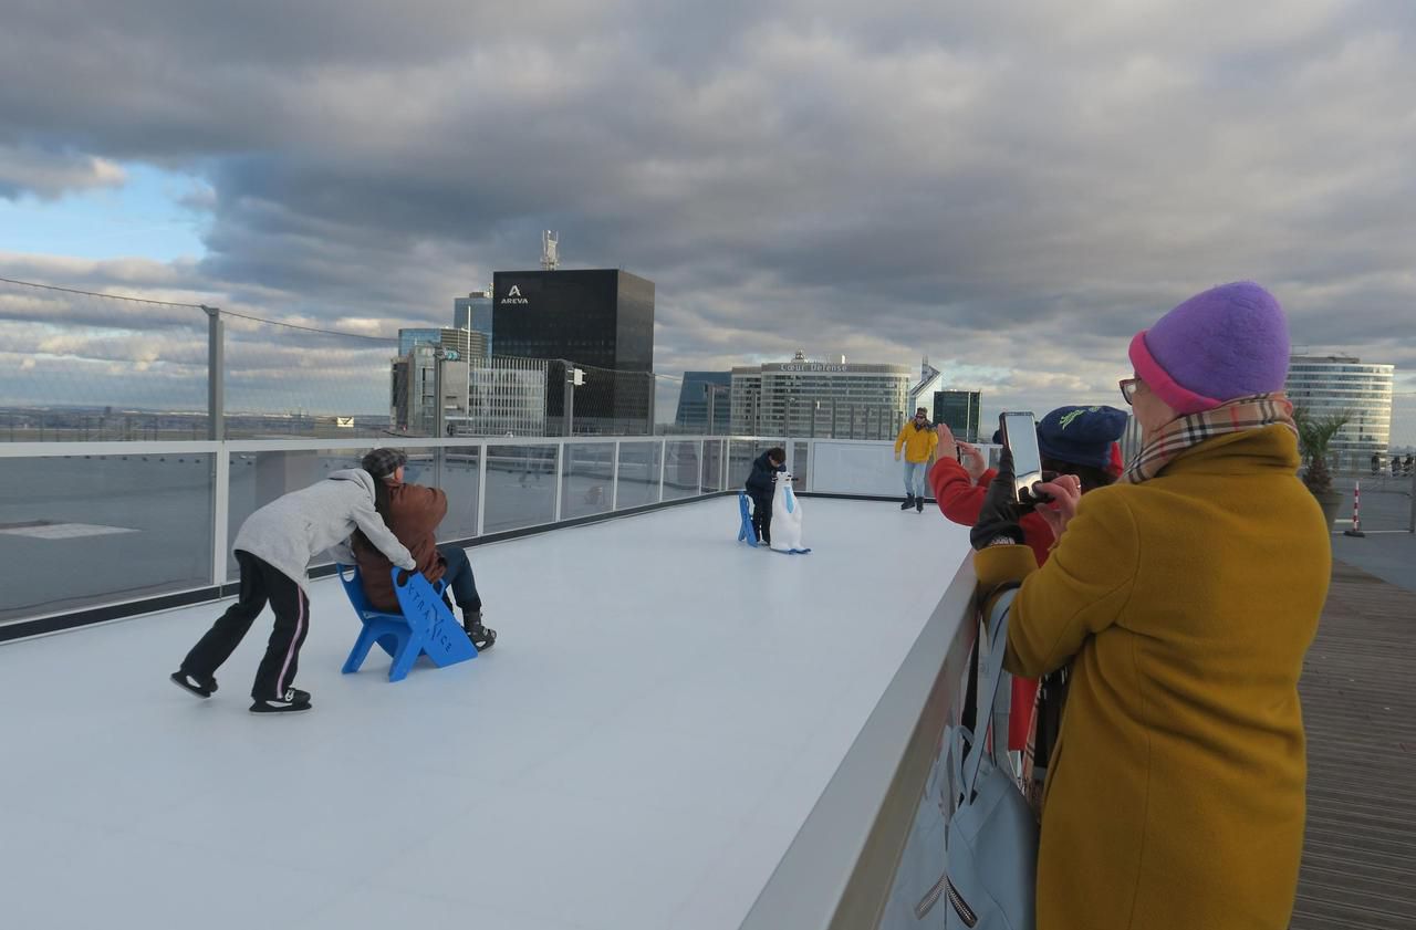
<path fill-rule="evenodd" d="M 355 529 L 362 529 L 394 565 L 416 568 L 413 556 L 374 510 L 374 478 L 364 469 L 334 471 L 251 514 L 232 545 L 241 566 L 241 595 L 187 653 L 181 668 L 171 675 L 173 682 L 200 698 L 210 698 L 217 689 L 217 670 L 270 602 L 275 630 L 251 688 L 251 709 L 256 713 L 309 711 L 310 692 L 293 687 L 300 645 L 310 630 L 306 568 L 326 549 L 334 549 L 340 562 L 351 565 L 348 538 Z"/>

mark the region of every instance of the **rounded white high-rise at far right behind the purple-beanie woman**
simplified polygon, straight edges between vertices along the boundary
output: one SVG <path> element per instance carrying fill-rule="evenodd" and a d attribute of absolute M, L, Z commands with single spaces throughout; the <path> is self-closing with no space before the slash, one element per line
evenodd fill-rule
<path fill-rule="evenodd" d="M 1347 355 L 1294 355 L 1286 391 L 1294 406 L 1314 416 L 1347 415 L 1330 449 L 1364 459 L 1374 452 L 1386 454 L 1391 446 L 1395 372 L 1395 365 Z"/>

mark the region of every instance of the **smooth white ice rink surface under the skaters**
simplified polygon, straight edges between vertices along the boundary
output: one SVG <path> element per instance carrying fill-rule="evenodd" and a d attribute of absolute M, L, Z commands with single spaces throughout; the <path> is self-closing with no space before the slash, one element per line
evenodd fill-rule
<path fill-rule="evenodd" d="M 497 647 L 389 684 L 313 585 L 297 685 L 167 674 L 228 602 L 0 645 L 0 913 L 48 927 L 736 927 L 967 553 L 933 508 L 735 498 L 470 551 Z M 82 570 L 76 566 L 75 570 Z"/>

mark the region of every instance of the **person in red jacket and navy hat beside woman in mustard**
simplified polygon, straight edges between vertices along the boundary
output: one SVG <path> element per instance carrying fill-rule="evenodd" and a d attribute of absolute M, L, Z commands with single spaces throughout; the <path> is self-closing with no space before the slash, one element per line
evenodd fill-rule
<path fill-rule="evenodd" d="M 1126 412 L 1114 406 L 1059 406 L 1038 423 L 1042 469 L 1056 474 L 1075 474 L 1082 481 L 1083 494 L 1110 484 L 1121 473 L 1117 440 L 1126 432 Z M 939 425 L 937 456 L 939 460 L 929 471 L 929 487 L 935 491 L 939 510 L 950 522 L 973 527 L 978 521 L 988 483 L 997 473 L 987 466 L 977 446 L 957 442 L 943 423 Z M 1020 525 L 1024 542 L 1032 549 L 1038 565 L 1042 565 L 1052 549 L 1052 529 L 1038 512 L 1025 514 Z M 1022 752 L 1028 745 L 1031 708 L 1037 694 L 1037 681 L 1012 679 L 1012 708 L 1027 708 L 1027 712 L 1008 718 L 1011 750 Z"/>

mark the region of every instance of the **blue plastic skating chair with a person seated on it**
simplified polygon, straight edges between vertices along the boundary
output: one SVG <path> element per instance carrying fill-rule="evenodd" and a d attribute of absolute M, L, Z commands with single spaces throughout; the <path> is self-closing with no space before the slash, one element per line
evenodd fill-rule
<path fill-rule="evenodd" d="M 344 569 L 353 568 L 353 575 L 346 576 Z M 419 655 L 433 660 L 439 668 L 477 658 L 477 647 L 472 644 L 462 624 L 452 616 L 452 610 L 442 600 L 443 583 L 433 587 L 419 572 L 408 573 L 399 583 L 402 569 L 394 568 L 394 595 L 404 613 L 385 613 L 375 610 L 364 596 L 362 579 L 358 566 L 338 566 L 340 583 L 344 593 L 354 604 L 364 628 L 360 630 L 350 657 L 344 660 L 344 674 L 357 672 L 368 657 L 368 651 L 378 643 L 385 653 L 394 657 L 394 664 L 388 670 L 389 681 L 402 681 L 408 677 L 408 670 L 413 667 Z"/>

